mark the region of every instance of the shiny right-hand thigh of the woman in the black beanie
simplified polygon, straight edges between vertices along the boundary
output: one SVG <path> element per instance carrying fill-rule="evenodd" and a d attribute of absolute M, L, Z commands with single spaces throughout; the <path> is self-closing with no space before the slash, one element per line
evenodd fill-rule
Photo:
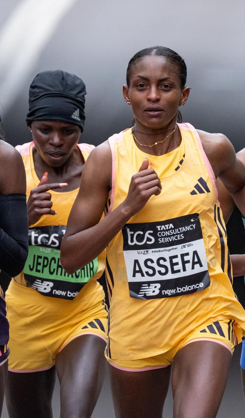
<path fill-rule="evenodd" d="M 105 377 L 105 346 L 99 336 L 82 335 L 57 354 L 61 418 L 91 417 Z"/>

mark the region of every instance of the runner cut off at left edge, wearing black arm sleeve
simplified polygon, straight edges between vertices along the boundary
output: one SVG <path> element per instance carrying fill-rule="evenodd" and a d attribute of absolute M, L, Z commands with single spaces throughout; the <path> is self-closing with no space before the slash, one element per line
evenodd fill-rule
<path fill-rule="evenodd" d="M 0 119 L 0 269 L 19 274 L 28 255 L 26 175 L 19 153 L 5 142 Z M 9 324 L 3 290 L 0 287 L 0 416 L 8 374 Z"/>

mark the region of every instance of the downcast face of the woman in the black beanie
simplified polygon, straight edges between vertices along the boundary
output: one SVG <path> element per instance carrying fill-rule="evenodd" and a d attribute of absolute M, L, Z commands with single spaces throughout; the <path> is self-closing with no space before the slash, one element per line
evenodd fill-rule
<path fill-rule="evenodd" d="M 38 154 L 51 167 L 62 166 L 77 147 L 81 130 L 64 122 L 35 120 L 31 124 Z"/>

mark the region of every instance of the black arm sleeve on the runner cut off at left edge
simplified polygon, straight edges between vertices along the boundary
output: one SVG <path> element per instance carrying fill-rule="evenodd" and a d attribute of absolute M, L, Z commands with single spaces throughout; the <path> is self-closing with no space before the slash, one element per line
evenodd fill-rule
<path fill-rule="evenodd" d="M 0 269 L 14 277 L 23 270 L 27 256 L 26 195 L 0 194 Z"/>

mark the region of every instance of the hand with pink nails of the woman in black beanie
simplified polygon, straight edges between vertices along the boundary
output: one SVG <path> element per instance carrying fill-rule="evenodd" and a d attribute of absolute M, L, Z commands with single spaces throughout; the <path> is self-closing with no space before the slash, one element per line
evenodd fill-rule
<path fill-rule="evenodd" d="M 29 199 L 27 201 L 27 212 L 29 226 L 38 222 L 43 215 L 56 215 L 51 209 L 53 202 L 51 201 L 51 194 L 48 190 L 61 189 L 67 186 L 67 183 L 48 183 L 48 173 L 44 173 L 40 183 L 37 187 L 31 190 Z"/>

